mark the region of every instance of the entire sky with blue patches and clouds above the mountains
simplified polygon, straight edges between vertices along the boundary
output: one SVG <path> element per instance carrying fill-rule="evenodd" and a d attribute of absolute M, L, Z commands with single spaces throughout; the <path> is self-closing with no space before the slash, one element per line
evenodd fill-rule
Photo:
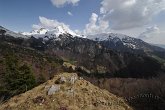
<path fill-rule="evenodd" d="M 0 0 L 0 25 L 16 32 L 63 25 L 165 44 L 165 0 Z"/>

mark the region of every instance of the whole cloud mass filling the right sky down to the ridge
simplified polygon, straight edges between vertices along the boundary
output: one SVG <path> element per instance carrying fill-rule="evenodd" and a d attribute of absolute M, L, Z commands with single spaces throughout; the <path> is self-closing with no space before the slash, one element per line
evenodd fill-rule
<path fill-rule="evenodd" d="M 165 44 L 164 9 L 165 0 L 102 0 L 100 14 L 92 14 L 84 33 L 122 33 Z"/>

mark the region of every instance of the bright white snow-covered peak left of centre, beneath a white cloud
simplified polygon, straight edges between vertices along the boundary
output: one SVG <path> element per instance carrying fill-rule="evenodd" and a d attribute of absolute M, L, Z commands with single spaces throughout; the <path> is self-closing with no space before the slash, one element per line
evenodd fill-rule
<path fill-rule="evenodd" d="M 41 28 L 38 30 L 33 30 L 32 32 L 23 32 L 23 35 L 33 36 L 35 38 L 44 38 L 45 40 L 50 38 L 57 39 L 60 35 L 71 35 L 72 37 L 81 37 L 80 35 L 76 34 L 74 31 L 70 30 L 64 26 L 57 26 L 53 29 L 46 29 Z"/>

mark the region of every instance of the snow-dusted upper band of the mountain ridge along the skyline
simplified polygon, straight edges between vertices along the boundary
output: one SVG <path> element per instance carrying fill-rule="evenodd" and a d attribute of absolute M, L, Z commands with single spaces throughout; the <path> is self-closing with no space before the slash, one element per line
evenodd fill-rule
<path fill-rule="evenodd" d="M 8 35 L 11 34 L 11 36 L 14 36 L 14 37 L 17 35 L 17 33 L 9 31 L 9 30 L 3 28 L 2 26 L 1 26 L 1 29 L 6 30 Z M 13 33 L 14 33 L 14 35 L 13 35 Z M 24 36 L 21 36 L 21 34 L 24 35 Z M 117 45 L 116 43 L 120 42 L 122 44 L 122 46 L 125 46 L 125 47 L 130 48 L 130 49 L 144 49 L 144 48 L 142 48 L 142 46 L 147 45 L 149 50 L 150 50 L 150 48 L 153 47 L 155 49 L 165 51 L 165 49 L 163 49 L 163 48 L 156 47 L 155 45 L 146 43 L 146 42 L 144 42 L 140 39 L 130 37 L 130 36 L 127 36 L 127 35 L 124 35 L 124 34 L 101 33 L 101 34 L 94 34 L 94 35 L 84 36 L 84 35 L 76 34 L 72 30 L 70 30 L 69 28 L 67 29 L 67 28 L 64 28 L 63 26 L 57 26 L 54 29 L 40 28 L 40 29 L 37 29 L 37 30 L 33 30 L 30 33 L 29 32 L 18 33 L 17 36 L 22 37 L 22 38 L 30 38 L 31 36 L 33 36 L 37 39 L 43 38 L 44 40 L 49 40 L 49 39 L 58 39 L 59 40 L 60 35 L 67 35 L 67 34 L 72 36 L 72 37 L 87 38 L 87 39 L 98 41 L 98 42 L 107 42 L 107 41 L 109 43 L 113 42 L 114 45 Z M 140 45 L 140 44 L 142 44 L 142 45 Z"/>

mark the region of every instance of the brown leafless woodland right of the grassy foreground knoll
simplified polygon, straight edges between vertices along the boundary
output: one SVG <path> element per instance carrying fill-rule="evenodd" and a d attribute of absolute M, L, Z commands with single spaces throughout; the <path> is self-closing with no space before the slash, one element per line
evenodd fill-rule
<path fill-rule="evenodd" d="M 137 110 L 165 109 L 165 75 L 163 74 L 149 79 L 89 77 L 85 79 L 123 97 Z"/>

